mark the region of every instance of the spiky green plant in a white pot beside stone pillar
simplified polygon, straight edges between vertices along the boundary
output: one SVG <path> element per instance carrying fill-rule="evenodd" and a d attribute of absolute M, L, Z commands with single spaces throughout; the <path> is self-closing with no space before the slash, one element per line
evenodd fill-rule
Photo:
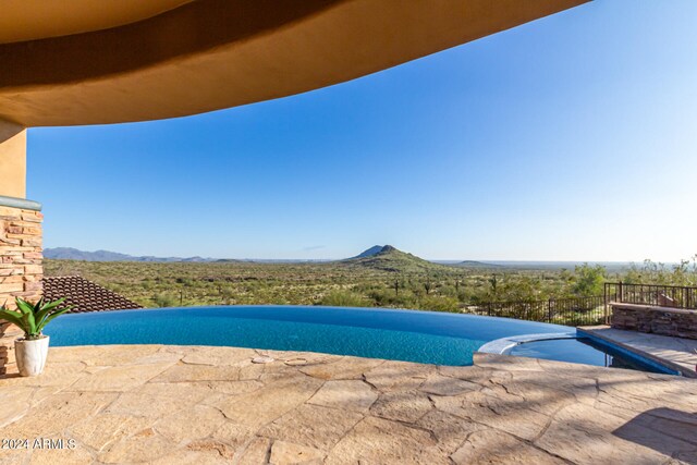
<path fill-rule="evenodd" d="M 30 304 L 17 297 L 16 310 L 0 307 L 0 320 L 9 321 L 24 331 L 24 338 L 14 341 L 14 355 L 21 376 L 37 376 L 44 370 L 49 336 L 41 334 L 41 330 L 53 318 L 73 308 L 58 308 L 64 301 L 65 298 L 59 298 L 46 302 L 41 297 L 36 304 Z"/>

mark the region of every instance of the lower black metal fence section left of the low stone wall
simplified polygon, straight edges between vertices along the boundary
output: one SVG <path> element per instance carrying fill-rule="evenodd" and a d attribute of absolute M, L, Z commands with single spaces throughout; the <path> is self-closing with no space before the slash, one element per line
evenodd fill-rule
<path fill-rule="evenodd" d="M 470 305 L 465 311 L 576 327 L 604 323 L 608 316 L 606 302 L 603 295 L 533 302 L 488 302 Z"/>

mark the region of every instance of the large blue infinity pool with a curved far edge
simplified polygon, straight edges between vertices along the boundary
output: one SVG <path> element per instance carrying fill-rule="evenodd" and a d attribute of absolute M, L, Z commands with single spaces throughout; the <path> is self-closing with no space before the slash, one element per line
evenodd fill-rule
<path fill-rule="evenodd" d="M 74 314 L 47 328 L 51 344 L 231 345 L 439 365 L 472 365 L 486 342 L 568 328 L 417 310 L 302 306 L 186 307 Z"/>

